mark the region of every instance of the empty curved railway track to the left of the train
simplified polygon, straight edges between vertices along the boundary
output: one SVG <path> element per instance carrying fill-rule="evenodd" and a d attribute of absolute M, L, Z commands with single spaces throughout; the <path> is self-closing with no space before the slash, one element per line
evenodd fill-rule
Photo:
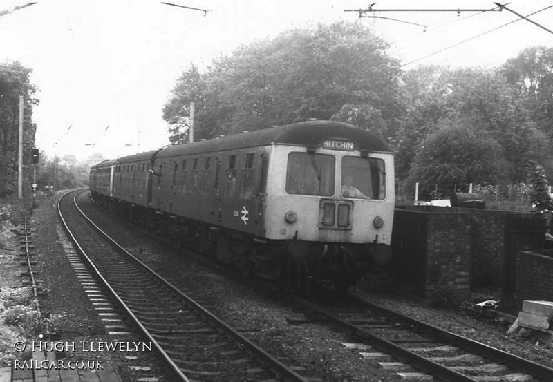
<path fill-rule="evenodd" d="M 77 194 L 65 195 L 58 204 L 68 235 L 117 309 L 176 378 L 320 381 L 275 359 L 125 251 L 84 216 Z"/>

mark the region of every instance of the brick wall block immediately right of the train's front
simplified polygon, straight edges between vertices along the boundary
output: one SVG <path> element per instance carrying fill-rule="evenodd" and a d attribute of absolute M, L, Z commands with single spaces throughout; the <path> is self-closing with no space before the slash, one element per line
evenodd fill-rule
<path fill-rule="evenodd" d="M 396 209 L 391 276 L 407 293 L 431 299 L 451 292 L 470 294 L 470 220 L 467 213 Z"/>

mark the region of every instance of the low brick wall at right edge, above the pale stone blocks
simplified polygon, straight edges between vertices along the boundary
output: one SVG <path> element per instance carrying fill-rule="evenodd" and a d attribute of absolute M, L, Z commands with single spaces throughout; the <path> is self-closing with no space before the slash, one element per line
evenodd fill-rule
<path fill-rule="evenodd" d="M 518 251 L 515 296 L 521 300 L 553 301 L 553 257 Z"/>

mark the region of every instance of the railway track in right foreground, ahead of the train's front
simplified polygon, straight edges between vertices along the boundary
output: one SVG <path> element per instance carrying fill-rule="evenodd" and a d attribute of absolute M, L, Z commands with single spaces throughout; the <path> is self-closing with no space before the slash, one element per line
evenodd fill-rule
<path fill-rule="evenodd" d="M 346 344 L 402 379 L 445 382 L 553 381 L 553 369 L 409 316 L 368 303 L 357 296 L 315 303 L 295 296 L 308 321 L 324 320 L 359 340 Z M 377 350 L 377 351 L 375 351 Z"/>

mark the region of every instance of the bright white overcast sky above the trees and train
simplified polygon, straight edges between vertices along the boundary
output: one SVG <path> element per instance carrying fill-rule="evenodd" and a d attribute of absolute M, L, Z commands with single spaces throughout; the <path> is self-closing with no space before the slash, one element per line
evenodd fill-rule
<path fill-rule="evenodd" d="M 294 27 L 364 23 L 395 41 L 390 52 L 402 63 L 418 60 L 405 69 L 498 66 L 526 47 L 553 46 L 553 34 L 525 20 L 489 32 L 518 19 L 507 10 L 371 12 L 378 18 L 359 19 L 357 12 L 344 10 L 367 8 L 370 1 L 165 1 L 209 10 L 204 16 L 154 0 L 6 0 L 0 11 L 30 1 L 36 4 L 0 16 L 0 62 L 21 61 L 33 70 L 32 82 L 39 87 L 34 114 L 39 149 L 50 156 L 71 153 L 79 160 L 93 152 L 117 157 L 169 144 L 162 107 L 183 70 L 191 63 L 205 67 L 242 44 Z M 522 15 L 549 6 L 553 0 L 507 5 Z M 494 7 L 493 1 L 381 0 L 373 10 Z M 553 8 L 531 19 L 553 30 Z"/>

